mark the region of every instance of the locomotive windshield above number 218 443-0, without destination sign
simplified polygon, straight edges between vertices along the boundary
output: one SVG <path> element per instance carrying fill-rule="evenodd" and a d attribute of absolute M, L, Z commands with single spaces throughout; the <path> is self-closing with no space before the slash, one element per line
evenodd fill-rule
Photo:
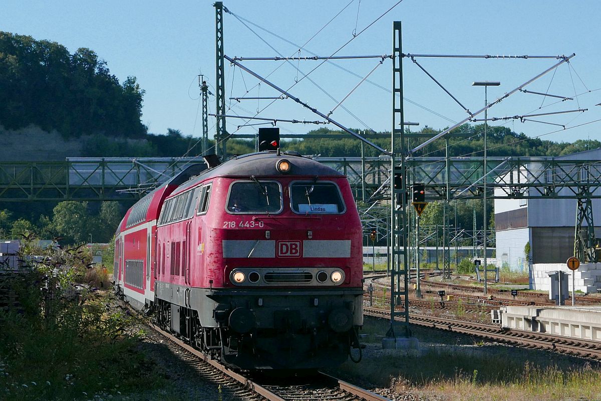
<path fill-rule="evenodd" d="M 282 188 L 277 182 L 234 182 L 227 210 L 230 213 L 279 213 L 282 210 Z"/>

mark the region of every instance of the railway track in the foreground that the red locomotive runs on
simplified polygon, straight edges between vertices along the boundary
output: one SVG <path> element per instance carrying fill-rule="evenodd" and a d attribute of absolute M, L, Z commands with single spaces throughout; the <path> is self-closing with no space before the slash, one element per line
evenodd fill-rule
<path fill-rule="evenodd" d="M 293 379 L 267 379 L 253 377 L 250 373 L 240 373 L 213 360 L 203 352 L 194 349 L 170 333 L 156 325 L 149 325 L 155 339 L 160 336 L 167 346 L 177 352 L 189 365 L 199 370 L 201 375 L 208 376 L 220 385 L 233 388 L 233 395 L 245 400 L 269 401 L 323 401 L 324 399 L 340 401 L 390 401 L 386 397 L 372 393 L 361 387 L 317 372 L 314 376 Z"/>

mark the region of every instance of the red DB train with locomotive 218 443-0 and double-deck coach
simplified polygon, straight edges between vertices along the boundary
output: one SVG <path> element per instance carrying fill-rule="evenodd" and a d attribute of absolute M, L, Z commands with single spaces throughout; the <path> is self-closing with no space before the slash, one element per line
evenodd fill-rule
<path fill-rule="evenodd" d="M 240 369 L 346 361 L 360 346 L 362 272 L 346 177 L 293 152 L 191 166 L 115 236 L 124 299 Z"/>

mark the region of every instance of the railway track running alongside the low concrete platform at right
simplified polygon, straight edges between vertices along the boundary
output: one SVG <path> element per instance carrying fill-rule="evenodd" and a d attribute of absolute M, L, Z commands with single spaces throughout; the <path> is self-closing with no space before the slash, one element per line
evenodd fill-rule
<path fill-rule="evenodd" d="M 386 310 L 364 307 L 367 316 L 390 318 Z M 400 318 L 398 318 L 400 320 Z M 409 314 L 409 322 L 419 326 L 459 332 L 522 347 L 552 350 L 562 354 L 601 361 L 601 341 L 575 340 L 545 333 L 502 329 L 495 325 L 466 322 L 444 317 Z"/>

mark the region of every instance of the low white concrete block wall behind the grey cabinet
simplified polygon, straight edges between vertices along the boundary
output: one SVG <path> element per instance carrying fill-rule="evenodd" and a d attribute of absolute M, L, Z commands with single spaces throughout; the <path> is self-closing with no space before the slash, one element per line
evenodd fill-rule
<path fill-rule="evenodd" d="M 578 270 L 571 271 L 566 263 L 536 263 L 530 271 L 530 288 L 533 290 L 549 291 L 551 289 L 551 278 L 549 272 L 562 271 L 570 274 L 568 287 L 572 291 L 572 275 L 576 291 L 585 294 L 596 293 L 601 289 L 601 263 L 586 263 L 580 265 Z"/>

